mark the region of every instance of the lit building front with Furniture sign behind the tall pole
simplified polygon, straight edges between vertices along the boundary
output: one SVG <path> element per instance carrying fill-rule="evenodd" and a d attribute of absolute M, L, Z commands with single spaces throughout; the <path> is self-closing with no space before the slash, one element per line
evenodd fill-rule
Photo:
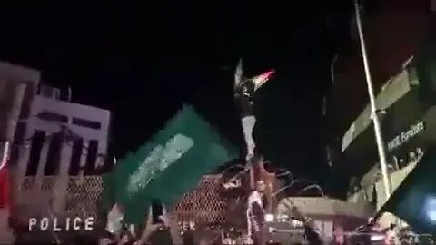
<path fill-rule="evenodd" d="M 433 54 L 435 59 L 436 54 Z M 399 188 L 414 168 L 420 167 L 424 155 L 436 153 L 429 150 L 434 149 L 436 144 L 436 100 L 434 96 L 428 97 L 429 81 L 419 72 L 420 65 L 412 60 L 401 73 L 386 83 L 377 96 L 377 105 L 383 108 L 381 130 L 391 191 Z M 347 200 L 370 203 L 374 211 L 381 210 L 387 198 L 381 180 L 369 105 L 342 137 L 341 150 L 341 161 L 336 162 L 334 169 L 350 180 L 346 187 Z M 352 168 L 347 167 L 351 165 Z M 391 218 L 387 219 L 385 225 L 389 226 L 391 221 Z"/>

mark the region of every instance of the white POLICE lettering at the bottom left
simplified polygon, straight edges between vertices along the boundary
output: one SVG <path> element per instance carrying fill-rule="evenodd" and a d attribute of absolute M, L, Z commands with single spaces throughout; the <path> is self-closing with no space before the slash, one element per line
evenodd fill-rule
<path fill-rule="evenodd" d="M 36 218 L 29 219 L 29 231 L 70 231 L 70 230 L 94 230 L 94 217 L 87 217 L 82 219 L 80 217 L 65 218 L 64 220 L 64 230 L 59 225 L 60 220 L 58 218 L 50 219 L 48 217 L 43 217 L 40 220 Z M 39 228 L 39 229 L 38 229 Z"/>

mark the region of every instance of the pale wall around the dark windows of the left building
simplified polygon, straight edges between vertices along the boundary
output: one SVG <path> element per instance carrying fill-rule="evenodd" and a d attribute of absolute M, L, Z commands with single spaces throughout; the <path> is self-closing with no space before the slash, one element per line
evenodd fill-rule
<path fill-rule="evenodd" d="M 49 121 L 46 118 L 41 118 L 41 113 L 55 113 L 57 115 L 62 115 L 66 118 L 66 122 L 56 122 Z M 74 124 L 74 118 L 85 119 L 91 122 L 99 122 L 100 129 L 87 128 L 81 125 Z M 58 101 L 52 98 L 45 98 L 40 95 L 35 96 L 34 103 L 31 108 L 31 116 L 26 125 L 25 139 L 32 139 L 35 131 L 45 132 L 45 143 L 42 149 L 42 157 L 38 166 L 38 174 L 43 175 L 44 165 L 45 165 L 45 154 L 48 151 L 48 145 L 51 142 L 51 137 L 56 132 L 60 132 L 62 126 L 65 126 L 71 132 L 74 133 L 74 137 L 82 138 L 84 141 L 83 154 L 81 157 L 81 165 L 83 166 L 86 160 L 87 149 L 89 146 L 88 142 L 92 140 L 98 141 L 98 152 L 97 154 L 106 155 L 108 140 L 109 140 L 109 127 L 110 127 L 111 113 L 107 110 L 100 108 L 95 108 L 91 106 L 86 106 L 78 103 L 69 103 Z M 28 142 L 28 141 L 27 141 Z M 23 146 L 23 151 L 20 154 L 21 160 L 18 163 L 18 168 L 20 169 L 20 175 L 24 176 L 27 165 L 29 164 L 29 156 L 31 147 Z M 66 174 L 70 165 L 70 158 L 72 153 L 72 143 L 64 143 L 62 146 L 62 153 L 66 154 L 61 160 L 60 171 L 58 173 Z M 96 166 L 103 164 L 103 159 L 97 160 Z"/>

